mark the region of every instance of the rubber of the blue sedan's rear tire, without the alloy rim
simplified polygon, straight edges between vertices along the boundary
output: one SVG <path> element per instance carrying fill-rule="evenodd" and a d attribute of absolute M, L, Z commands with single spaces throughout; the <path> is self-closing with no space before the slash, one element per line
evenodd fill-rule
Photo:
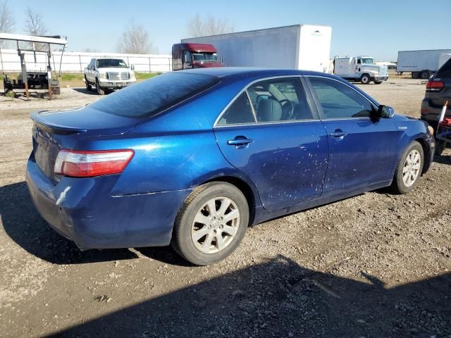
<path fill-rule="evenodd" d="M 208 201 L 220 197 L 230 199 L 237 206 L 240 215 L 239 222 L 237 222 L 237 231 L 235 236 L 231 239 L 231 242 L 221 251 L 216 253 L 204 253 L 197 249 L 192 239 L 194 217 L 199 211 L 203 210 L 202 207 L 205 206 Z M 209 215 L 207 215 L 207 217 L 209 217 Z M 245 195 L 242 194 L 240 189 L 237 189 L 233 184 L 226 182 L 209 182 L 194 189 L 181 206 L 177 218 L 175 219 L 171 246 L 180 256 L 190 263 L 195 265 L 209 265 L 223 260 L 235 251 L 245 236 L 248 225 L 249 206 Z M 216 233 L 216 230 L 214 231 Z M 220 235 L 222 236 L 222 234 Z M 204 240 L 206 240 L 206 238 Z"/>

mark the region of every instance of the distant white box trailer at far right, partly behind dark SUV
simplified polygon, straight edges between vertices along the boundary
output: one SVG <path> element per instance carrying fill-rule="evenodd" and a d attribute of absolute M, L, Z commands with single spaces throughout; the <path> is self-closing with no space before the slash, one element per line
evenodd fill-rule
<path fill-rule="evenodd" d="M 414 79 L 428 79 L 438 70 L 440 54 L 449 54 L 451 49 L 429 49 L 423 51 L 398 51 L 398 73 L 412 72 Z"/>

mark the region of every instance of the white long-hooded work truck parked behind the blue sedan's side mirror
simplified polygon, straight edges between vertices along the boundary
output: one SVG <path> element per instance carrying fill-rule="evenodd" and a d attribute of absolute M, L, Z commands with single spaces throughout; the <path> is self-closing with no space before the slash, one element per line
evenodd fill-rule
<path fill-rule="evenodd" d="M 376 65 L 371 56 L 336 57 L 333 60 L 333 73 L 346 80 L 369 84 L 381 84 L 388 80 L 388 67 Z"/>

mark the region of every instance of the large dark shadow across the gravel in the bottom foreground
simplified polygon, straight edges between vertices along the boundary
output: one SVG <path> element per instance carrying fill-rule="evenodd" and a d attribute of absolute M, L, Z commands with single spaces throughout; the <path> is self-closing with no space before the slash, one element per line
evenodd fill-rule
<path fill-rule="evenodd" d="M 450 289 L 451 273 L 388 288 L 278 256 L 51 337 L 445 337 Z"/>

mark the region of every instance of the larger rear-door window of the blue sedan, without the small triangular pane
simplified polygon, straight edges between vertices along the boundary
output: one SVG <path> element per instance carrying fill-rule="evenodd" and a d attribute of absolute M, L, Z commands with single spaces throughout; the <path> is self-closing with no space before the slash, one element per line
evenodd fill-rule
<path fill-rule="evenodd" d="M 298 77 L 264 80 L 247 89 L 257 122 L 311 120 L 307 95 Z"/>

